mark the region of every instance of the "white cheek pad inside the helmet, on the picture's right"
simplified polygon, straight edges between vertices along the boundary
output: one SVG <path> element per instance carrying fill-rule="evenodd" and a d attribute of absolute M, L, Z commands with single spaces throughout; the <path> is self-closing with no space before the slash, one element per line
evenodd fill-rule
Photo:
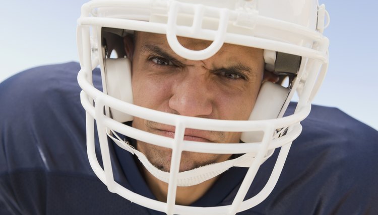
<path fill-rule="evenodd" d="M 254 109 L 249 120 L 276 119 L 289 94 L 289 89 L 272 82 L 264 82 L 257 96 Z M 262 131 L 242 132 L 240 140 L 246 142 L 260 142 L 263 138 Z"/>

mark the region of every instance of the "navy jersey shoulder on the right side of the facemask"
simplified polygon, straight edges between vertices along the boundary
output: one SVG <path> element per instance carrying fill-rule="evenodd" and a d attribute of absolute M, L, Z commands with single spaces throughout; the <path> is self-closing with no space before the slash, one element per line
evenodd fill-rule
<path fill-rule="evenodd" d="M 320 105 L 301 125 L 270 200 L 291 213 L 377 214 L 378 132 Z"/>

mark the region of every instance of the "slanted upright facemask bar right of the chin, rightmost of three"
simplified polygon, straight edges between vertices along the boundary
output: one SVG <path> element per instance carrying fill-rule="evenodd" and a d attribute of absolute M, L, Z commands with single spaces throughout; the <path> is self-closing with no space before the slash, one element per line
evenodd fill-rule
<path fill-rule="evenodd" d="M 248 168 L 248 171 L 245 174 L 243 182 L 241 183 L 239 190 L 236 193 L 236 196 L 232 202 L 230 212 L 228 214 L 235 214 L 237 212 L 237 209 L 242 203 L 247 191 L 249 190 L 250 185 L 255 179 L 260 165 L 263 163 L 264 156 L 268 151 L 268 145 L 272 139 L 272 134 L 275 131 L 275 128 L 269 126 L 268 124 L 265 126 L 265 128 L 266 129 L 264 132 L 263 141 L 260 143 L 260 150 L 256 155 L 254 162 L 252 162 L 251 166 Z"/>

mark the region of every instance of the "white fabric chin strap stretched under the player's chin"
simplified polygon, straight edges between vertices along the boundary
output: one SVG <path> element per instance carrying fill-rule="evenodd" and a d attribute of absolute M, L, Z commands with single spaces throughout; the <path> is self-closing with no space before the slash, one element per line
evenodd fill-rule
<path fill-rule="evenodd" d="M 142 162 L 143 166 L 157 179 L 168 183 L 169 181 L 169 172 L 162 171 L 156 168 L 150 161 L 146 158 L 146 156 L 136 150 L 133 146 L 129 144 L 129 141 L 122 141 L 119 136 L 111 131 L 111 133 L 116 137 L 114 138 L 109 132 L 106 132 L 107 135 L 122 149 L 127 150 L 128 152 L 135 154 L 138 159 Z M 264 160 L 267 160 L 272 154 L 274 150 L 269 150 L 267 155 L 264 157 Z M 255 153 L 249 152 L 246 153 L 238 158 L 234 158 L 231 160 L 223 161 L 220 163 L 213 163 L 209 165 L 205 165 L 202 167 L 198 167 L 196 169 L 179 172 L 177 176 L 177 186 L 193 186 L 200 184 L 206 180 L 209 180 L 215 176 L 218 176 L 228 170 L 231 167 L 250 167 L 253 161 L 255 160 Z"/>

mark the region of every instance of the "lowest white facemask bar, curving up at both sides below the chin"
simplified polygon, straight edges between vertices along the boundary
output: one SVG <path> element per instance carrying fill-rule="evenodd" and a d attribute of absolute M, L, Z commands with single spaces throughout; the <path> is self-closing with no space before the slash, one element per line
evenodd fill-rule
<path fill-rule="evenodd" d="M 82 92 L 81 93 L 82 99 L 87 99 L 87 95 Z M 88 102 L 89 105 L 90 102 Z M 274 169 L 272 171 L 272 176 L 267 181 L 264 188 L 259 192 L 257 195 L 255 195 L 252 198 L 249 198 L 247 200 L 243 201 L 243 196 L 245 193 L 240 192 L 240 190 L 247 190 L 246 188 L 249 187 L 249 184 L 251 183 L 251 177 L 249 177 L 250 174 L 246 175 L 246 179 L 243 180 L 243 183 L 241 185 L 241 188 L 239 189 L 238 195 L 236 196 L 233 204 L 226 205 L 226 206 L 216 206 L 216 207 L 192 207 L 192 206 L 183 206 L 183 205 L 177 205 L 174 203 L 174 201 L 167 201 L 160 202 L 157 200 L 146 198 L 140 194 L 134 193 L 123 186 L 119 185 L 117 182 L 112 180 L 112 177 L 109 178 L 109 174 L 112 175 L 112 171 L 110 168 L 110 173 L 108 172 L 105 174 L 106 170 L 104 171 L 101 166 L 99 165 L 97 158 L 95 157 L 96 153 L 94 152 L 94 139 L 93 139 L 93 129 L 94 129 L 94 119 L 88 114 L 87 112 L 87 147 L 88 147 L 88 155 L 89 155 L 89 161 L 91 163 L 91 166 L 93 170 L 95 171 L 96 175 L 103 181 L 105 184 L 107 184 L 108 189 L 111 192 L 116 192 L 122 197 L 126 199 L 133 199 L 133 202 L 138 203 L 142 206 L 146 206 L 155 210 L 159 211 L 166 211 L 167 206 L 170 207 L 171 211 L 174 211 L 174 213 L 177 214 L 224 214 L 224 211 L 242 211 L 245 209 L 248 209 L 250 207 L 253 207 L 257 204 L 259 204 L 261 201 L 263 201 L 267 195 L 272 191 L 274 185 L 277 183 L 278 176 L 280 175 L 280 172 L 282 170 L 284 161 L 286 159 L 287 153 L 290 149 L 291 143 L 288 143 L 287 145 L 283 146 L 280 150 L 279 156 L 276 160 L 276 165 L 274 166 Z M 91 132 L 92 130 L 92 132 Z M 92 135 L 90 135 L 92 134 Z M 107 145 L 107 142 L 106 142 Z M 109 170 L 109 168 L 108 168 Z M 248 171 L 249 172 L 249 171 Z M 107 179 L 106 179 L 107 178 Z M 170 184 L 170 186 L 173 186 Z"/>

